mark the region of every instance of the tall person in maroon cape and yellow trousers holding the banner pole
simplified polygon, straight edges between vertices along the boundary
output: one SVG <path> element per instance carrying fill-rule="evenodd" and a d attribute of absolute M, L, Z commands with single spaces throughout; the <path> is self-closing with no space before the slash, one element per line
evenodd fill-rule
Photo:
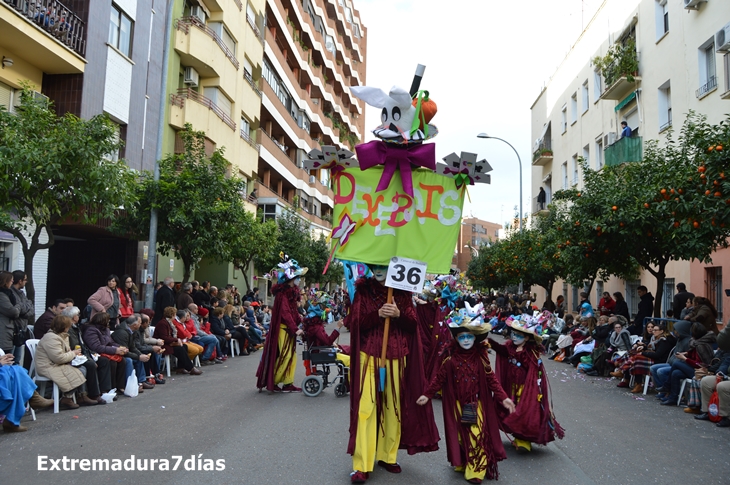
<path fill-rule="evenodd" d="M 400 473 L 398 449 L 409 455 L 438 450 L 438 429 L 430 404 L 416 400 L 427 385 L 423 347 L 411 293 L 393 291 L 387 303 L 387 267 L 373 267 L 361 278 L 345 326 L 350 329 L 350 439 L 352 483 L 365 483 L 375 460 L 390 473 Z M 390 318 L 385 362 L 380 362 L 385 318 Z M 381 364 L 385 366 L 380 391 Z"/>

